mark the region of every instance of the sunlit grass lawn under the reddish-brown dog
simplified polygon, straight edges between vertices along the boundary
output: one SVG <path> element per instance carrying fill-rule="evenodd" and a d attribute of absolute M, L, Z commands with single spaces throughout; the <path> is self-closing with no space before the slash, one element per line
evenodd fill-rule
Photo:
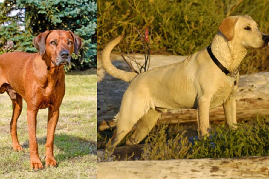
<path fill-rule="evenodd" d="M 0 178 L 96 178 L 96 70 L 65 75 L 65 97 L 60 107 L 54 138 L 57 168 L 30 169 L 26 103 L 18 119 L 17 133 L 22 152 L 12 149 L 10 119 L 12 104 L 7 93 L 0 95 Z M 45 166 L 48 109 L 37 116 L 39 156 Z"/>

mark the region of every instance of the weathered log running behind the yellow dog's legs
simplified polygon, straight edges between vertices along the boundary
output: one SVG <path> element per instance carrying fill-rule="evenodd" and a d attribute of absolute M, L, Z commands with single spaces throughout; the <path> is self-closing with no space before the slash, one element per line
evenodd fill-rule
<path fill-rule="evenodd" d="M 255 119 L 257 115 L 269 117 L 269 72 L 241 75 L 236 93 L 236 118 Z M 98 130 L 115 127 L 112 116 L 97 121 Z M 210 110 L 210 121 L 224 121 L 222 106 Z M 196 109 L 168 110 L 158 123 L 189 123 L 197 121 Z"/>

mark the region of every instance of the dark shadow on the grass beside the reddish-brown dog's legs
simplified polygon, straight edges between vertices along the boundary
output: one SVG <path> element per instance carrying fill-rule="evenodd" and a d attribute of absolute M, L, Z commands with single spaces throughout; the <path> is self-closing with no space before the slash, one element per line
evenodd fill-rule
<path fill-rule="evenodd" d="M 37 143 L 38 145 L 45 145 L 46 137 L 38 138 Z M 57 162 L 61 162 L 78 156 L 89 154 L 97 155 L 96 144 L 96 141 L 93 140 L 88 140 L 73 135 L 56 134 L 54 135 L 54 153 L 56 153 L 56 150 L 59 151 L 56 155 L 54 155 L 54 157 Z M 29 147 L 29 141 L 25 141 L 22 144 L 22 147 Z"/>

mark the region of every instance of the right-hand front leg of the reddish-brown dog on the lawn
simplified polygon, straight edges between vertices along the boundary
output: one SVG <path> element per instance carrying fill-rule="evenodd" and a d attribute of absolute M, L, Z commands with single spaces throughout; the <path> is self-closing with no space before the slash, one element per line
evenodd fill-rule
<path fill-rule="evenodd" d="M 53 155 L 53 141 L 55 127 L 59 118 L 59 109 L 49 107 L 48 110 L 48 126 L 47 126 L 47 142 L 46 142 L 46 166 L 56 166 L 56 160 Z"/>

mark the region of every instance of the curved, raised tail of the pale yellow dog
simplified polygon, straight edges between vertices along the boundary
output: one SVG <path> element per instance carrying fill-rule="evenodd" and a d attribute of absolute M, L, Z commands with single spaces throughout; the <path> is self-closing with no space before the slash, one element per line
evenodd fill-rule
<path fill-rule="evenodd" d="M 106 72 L 115 77 L 119 78 L 123 81 L 130 82 L 136 75 L 138 75 L 135 72 L 126 72 L 124 70 L 117 69 L 110 61 L 110 53 L 112 49 L 121 41 L 123 38 L 123 35 L 115 38 L 114 40 L 110 41 L 103 49 L 102 52 L 102 64 L 103 68 L 106 70 Z"/>

